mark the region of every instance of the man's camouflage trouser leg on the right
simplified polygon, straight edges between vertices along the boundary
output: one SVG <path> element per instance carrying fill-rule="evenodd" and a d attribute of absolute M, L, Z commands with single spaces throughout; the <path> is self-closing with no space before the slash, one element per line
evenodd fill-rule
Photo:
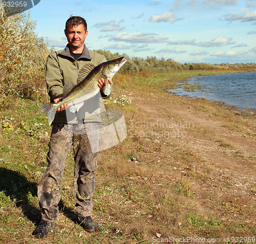
<path fill-rule="evenodd" d="M 84 134 L 74 135 L 75 173 L 73 197 L 76 201 L 75 212 L 79 217 L 91 216 L 92 197 L 98 158 L 99 124 L 86 123 Z"/>

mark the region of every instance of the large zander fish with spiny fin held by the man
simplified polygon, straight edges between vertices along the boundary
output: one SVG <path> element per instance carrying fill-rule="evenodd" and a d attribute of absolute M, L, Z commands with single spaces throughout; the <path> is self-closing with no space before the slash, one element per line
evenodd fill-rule
<path fill-rule="evenodd" d="M 104 78 L 106 85 L 104 94 L 109 95 L 111 87 L 108 78 L 112 78 L 116 72 L 123 66 L 127 60 L 124 57 L 113 59 L 94 66 L 93 64 L 84 65 L 78 75 L 77 83 L 68 82 L 63 86 L 63 99 L 55 103 L 45 103 L 41 105 L 41 111 L 48 114 L 49 125 L 55 117 L 57 109 L 62 104 L 67 104 L 68 109 L 75 113 L 78 111 L 83 102 L 87 101 L 99 92 L 98 80 Z"/>

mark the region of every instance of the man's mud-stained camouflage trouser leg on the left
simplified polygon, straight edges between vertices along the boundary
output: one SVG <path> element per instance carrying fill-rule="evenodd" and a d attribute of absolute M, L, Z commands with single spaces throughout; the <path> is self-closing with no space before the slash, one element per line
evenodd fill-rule
<path fill-rule="evenodd" d="M 42 180 L 38 184 L 37 196 L 42 219 L 54 222 L 58 217 L 58 203 L 61 197 L 61 180 L 66 158 L 72 147 L 73 133 L 68 125 L 54 124 L 49 143 L 47 161 Z"/>

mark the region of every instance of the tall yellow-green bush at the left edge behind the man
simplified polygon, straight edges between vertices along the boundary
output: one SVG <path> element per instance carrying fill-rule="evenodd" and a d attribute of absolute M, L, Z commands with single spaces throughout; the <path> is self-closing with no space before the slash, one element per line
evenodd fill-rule
<path fill-rule="evenodd" d="M 0 106 L 13 96 L 38 100 L 45 92 L 49 48 L 35 26 L 27 13 L 7 17 L 0 2 Z"/>

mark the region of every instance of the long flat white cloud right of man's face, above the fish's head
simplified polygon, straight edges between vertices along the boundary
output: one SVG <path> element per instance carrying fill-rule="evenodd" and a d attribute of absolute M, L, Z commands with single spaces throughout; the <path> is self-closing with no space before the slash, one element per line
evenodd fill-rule
<path fill-rule="evenodd" d="M 116 36 L 111 37 L 110 41 L 124 41 L 130 43 L 163 43 L 167 41 L 167 37 L 159 37 L 154 33 L 118 33 Z"/>

